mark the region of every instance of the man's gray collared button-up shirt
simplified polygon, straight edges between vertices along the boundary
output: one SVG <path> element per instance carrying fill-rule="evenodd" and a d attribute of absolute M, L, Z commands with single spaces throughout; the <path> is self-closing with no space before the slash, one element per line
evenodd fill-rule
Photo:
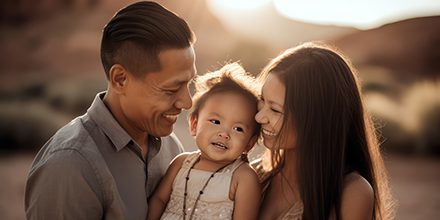
<path fill-rule="evenodd" d="M 28 219 L 142 219 L 147 199 L 183 152 L 174 134 L 141 148 L 96 96 L 87 113 L 61 128 L 36 156 L 27 179 Z"/>

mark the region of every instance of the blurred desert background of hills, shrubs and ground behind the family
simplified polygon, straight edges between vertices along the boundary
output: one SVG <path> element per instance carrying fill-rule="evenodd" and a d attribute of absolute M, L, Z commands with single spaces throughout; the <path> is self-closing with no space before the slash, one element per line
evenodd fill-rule
<path fill-rule="evenodd" d="M 366 104 L 380 128 L 400 204 L 396 219 L 438 219 L 440 7 L 427 14 L 414 8 L 394 20 L 356 27 L 288 18 L 275 0 L 239 7 L 221 1 L 157 1 L 194 29 L 198 74 L 240 61 L 258 75 L 271 58 L 300 42 L 333 42 L 358 69 Z M 384 0 L 378 9 L 394 7 L 388 1 L 399 4 Z M 106 90 L 101 31 L 132 2 L 0 0 L 0 219 L 25 219 L 24 187 L 33 157 L 59 128 L 86 112 L 97 92 Z M 328 2 L 343 7 L 344 1 Z M 298 3 L 297 8 L 306 6 Z M 184 112 L 174 130 L 192 151 L 185 119 Z M 261 147 L 253 156 L 258 152 Z"/>

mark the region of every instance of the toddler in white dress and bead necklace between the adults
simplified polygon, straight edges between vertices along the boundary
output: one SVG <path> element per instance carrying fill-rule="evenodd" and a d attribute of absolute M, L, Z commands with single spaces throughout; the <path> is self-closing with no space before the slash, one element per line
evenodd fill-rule
<path fill-rule="evenodd" d="M 257 218 L 260 183 L 247 159 L 260 131 L 255 85 L 236 63 L 196 79 L 188 119 L 199 151 L 171 162 L 147 219 Z"/>

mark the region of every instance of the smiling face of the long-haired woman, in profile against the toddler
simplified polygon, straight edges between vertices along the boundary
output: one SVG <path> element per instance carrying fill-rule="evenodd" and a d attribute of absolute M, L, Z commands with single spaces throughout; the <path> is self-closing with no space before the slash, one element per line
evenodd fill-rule
<path fill-rule="evenodd" d="M 286 87 L 274 74 L 269 74 L 261 90 L 261 100 L 258 103 L 258 112 L 255 120 L 261 124 L 264 145 L 273 149 L 275 139 L 280 134 L 284 120 L 284 97 Z M 288 117 L 288 116 L 286 116 Z M 294 128 L 288 129 L 285 138 L 280 140 L 281 149 L 293 149 L 296 146 L 297 132 Z"/>

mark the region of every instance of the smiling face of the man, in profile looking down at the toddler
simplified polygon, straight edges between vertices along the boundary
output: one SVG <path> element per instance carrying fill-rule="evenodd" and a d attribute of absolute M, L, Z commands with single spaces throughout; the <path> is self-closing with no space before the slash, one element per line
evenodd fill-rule
<path fill-rule="evenodd" d="M 159 53 L 162 70 L 150 72 L 132 83 L 121 99 L 126 121 L 134 132 L 163 137 L 173 131 L 182 109 L 192 106 L 188 85 L 196 74 L 193 47 Z"/>

